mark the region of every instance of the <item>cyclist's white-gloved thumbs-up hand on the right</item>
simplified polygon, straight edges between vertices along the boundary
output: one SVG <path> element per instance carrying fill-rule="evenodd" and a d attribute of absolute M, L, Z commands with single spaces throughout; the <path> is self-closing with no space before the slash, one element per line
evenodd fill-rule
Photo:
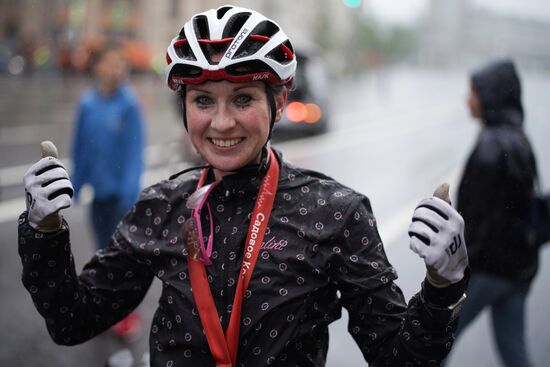
<path fill-rule="evenodd" d="M 434 196 L 416 207 L 409 227 L 412 251 L 424 259 L 426 277 L 435 287 L 459 282 L 468 266 L 464 220 L 451 206 L 449 185 L 442 184 Z"/>

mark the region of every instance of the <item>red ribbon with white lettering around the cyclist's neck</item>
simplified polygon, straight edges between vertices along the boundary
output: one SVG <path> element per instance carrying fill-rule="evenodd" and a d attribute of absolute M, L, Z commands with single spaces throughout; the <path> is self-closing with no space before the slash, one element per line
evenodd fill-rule
<path fill-rule="evenodd" d="M 256 259 L 262 247 L 265 230 L 273 208 L 273 201 L 275 200 L 275 193 L 277 192 L 279 162 L 277 162 L 277 157 L 271 149 L 269 149 L 269 158 L 269 169 L 260 184 L 258 198 L 248 226 L 243 263 L 239 272 L 231 318 L 225 335 L 212 298 L 204 264 L 191 256 L 187 257 L 193 298 L 197 304 L 199 317 L 206 333 L 206 340 L 212 357 L 216 361 L 216 367 L 235 367 L 236 365 L 244 293 L 250 283 Z M 205 176 L 205 171 L 203 171 L 198 187 L 204 184 Z"/>

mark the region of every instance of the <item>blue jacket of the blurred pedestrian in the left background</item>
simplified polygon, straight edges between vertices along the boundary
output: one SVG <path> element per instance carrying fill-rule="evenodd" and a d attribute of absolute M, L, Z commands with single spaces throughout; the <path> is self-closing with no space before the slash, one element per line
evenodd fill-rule
<path fill-rule="evenodd" d="M 141 190 L 144 127 L 137 97 L 127 85 L 105 97 L 97 88 L 82 96 L 73 139 L 71 179 L 78 199 L 90 184 L 94 198 L 121 199 L 131 207 Z"/>

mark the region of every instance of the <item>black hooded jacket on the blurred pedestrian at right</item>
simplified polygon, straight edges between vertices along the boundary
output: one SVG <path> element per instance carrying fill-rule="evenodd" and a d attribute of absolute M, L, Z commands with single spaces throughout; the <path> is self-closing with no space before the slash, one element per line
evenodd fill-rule
<path fill-rule="evenodd" d="M 458 193 L 472 270 L 527 281 L 537 271 L 537 251 L 525 223 L 533 195 L 535 160 L 523 132 L 521 88 L 509 61 L 472 75 L 483 128 Z"/>

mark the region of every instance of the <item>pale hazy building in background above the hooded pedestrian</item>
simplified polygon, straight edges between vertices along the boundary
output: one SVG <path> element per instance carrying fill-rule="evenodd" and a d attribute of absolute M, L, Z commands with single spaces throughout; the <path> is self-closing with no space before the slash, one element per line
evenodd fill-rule
<path fill-rule="evenodd" d="M 431 0 L 420 34 L 420 61 L 475 66 L 511 57 L 525 68 L 550 70 L 550 23 L 503 16 L 467 0 Z"/>

